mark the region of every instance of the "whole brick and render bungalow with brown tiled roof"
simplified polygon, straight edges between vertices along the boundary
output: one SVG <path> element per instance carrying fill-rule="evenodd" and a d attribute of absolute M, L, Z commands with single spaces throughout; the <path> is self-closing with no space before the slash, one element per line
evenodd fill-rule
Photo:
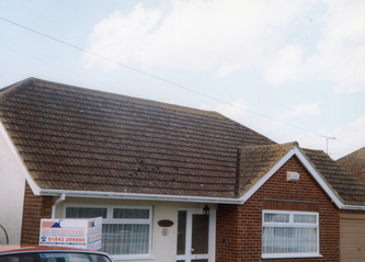
<path fill-rule="evenodd" d="M 11 243 L 101 216 L 115 261 L 340 261 L 340 215 L 365 213 L 326 153 L 215 112 L 31 78 L 0 90 L 0 119 Z"/>

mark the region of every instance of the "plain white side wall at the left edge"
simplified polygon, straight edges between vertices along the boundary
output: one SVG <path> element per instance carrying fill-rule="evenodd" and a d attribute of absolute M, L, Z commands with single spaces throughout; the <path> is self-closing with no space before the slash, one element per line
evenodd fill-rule
<path fill-rule="evenodd" d="M 24 190 L 25 178 L 0 132 L 0 224 L 5 228 L 11 244 L 21 241 Z"/>

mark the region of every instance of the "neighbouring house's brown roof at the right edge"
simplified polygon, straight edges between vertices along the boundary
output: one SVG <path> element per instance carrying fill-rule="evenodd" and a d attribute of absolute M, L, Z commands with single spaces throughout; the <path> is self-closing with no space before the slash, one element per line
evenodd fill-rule
<path fill-rule="evenodd" d="M 338 159 L 337 162 L 365 184 L 365 147 Z"/>

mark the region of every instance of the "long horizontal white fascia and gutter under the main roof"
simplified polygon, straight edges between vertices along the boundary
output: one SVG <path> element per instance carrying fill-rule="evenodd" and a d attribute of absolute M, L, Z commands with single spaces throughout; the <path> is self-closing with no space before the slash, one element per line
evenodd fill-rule
<path fill-rule="evenodd" d="M 158 194 L 135 194 L 135 193 L 117 193 L 117 192 L 98 192 L 98 191 L 65 191 L 65 190 L 41 190 L 39 193 L 42 195 L 52 195 L 52 196 L 65 194 L 67 197 L 243 204 L 240 198 L 204 197 L 204 196 L 189 196 L 189 195 L 182 196 L 182 195 L 158 195 Z"/>

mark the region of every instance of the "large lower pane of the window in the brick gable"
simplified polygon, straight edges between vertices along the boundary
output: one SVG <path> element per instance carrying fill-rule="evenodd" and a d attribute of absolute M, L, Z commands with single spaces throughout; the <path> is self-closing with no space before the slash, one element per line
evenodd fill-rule
<path fill-rule="evenodd" d="M 263 253 L 315 253 L 317 228 L 264 227 Z"/>

